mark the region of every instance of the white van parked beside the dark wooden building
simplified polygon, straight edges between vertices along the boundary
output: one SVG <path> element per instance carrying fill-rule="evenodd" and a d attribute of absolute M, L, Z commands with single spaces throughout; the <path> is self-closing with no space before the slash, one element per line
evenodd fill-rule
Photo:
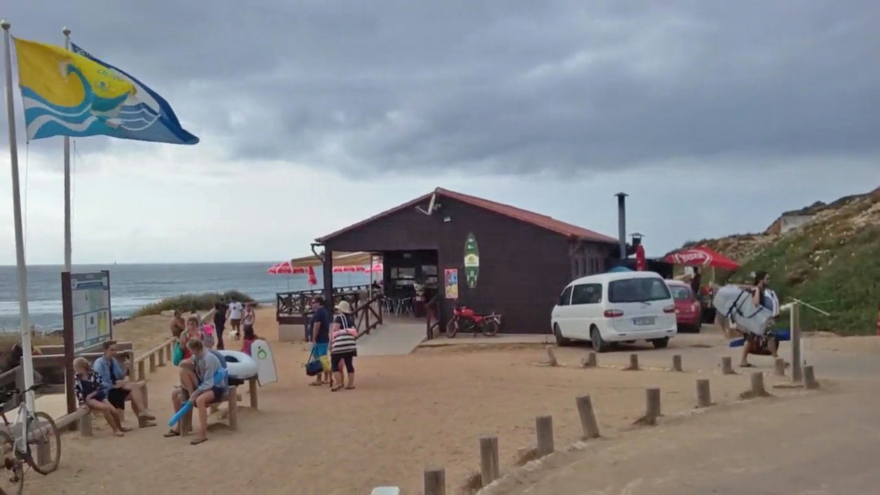
<path fill-rule="evenodd" d="M 557 344 L 588 340 L 597 352 L 614 342 L 636 340 L 659 349 L 677 332 L 672 295 L 663 277 L 652 271 L 578 278 L 562 291 L 550 323 Z"/>

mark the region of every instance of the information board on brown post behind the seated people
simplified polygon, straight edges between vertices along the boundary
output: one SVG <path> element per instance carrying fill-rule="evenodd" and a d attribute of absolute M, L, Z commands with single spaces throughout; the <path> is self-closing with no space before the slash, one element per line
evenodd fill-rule
<path fill-rule="evenodd" d="M 113 339 L 110 272 L 62 272 L 64 381 L 68 413 L 77 409 L 73 391 L 73 358 L 77 352 Z"/>

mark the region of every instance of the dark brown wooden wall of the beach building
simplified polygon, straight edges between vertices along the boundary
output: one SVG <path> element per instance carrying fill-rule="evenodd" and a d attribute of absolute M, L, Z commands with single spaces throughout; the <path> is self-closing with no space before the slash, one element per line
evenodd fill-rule
<path fill-rule="evenodd" d="M 442 208 L 431 216 L 407 208 L 327 240 L 326 247 L 333 251 L 436 249 L 441 292 L 444 269 L 458 269 L 460 303 L 478 313 L 501 313 L 503 332 L 550 333 L 550 312 L 571 281 L 569 240 L 445 196 L 437 201 Z M 425 203 L 422 207 L 427 208 Z M 451 221 L 444 223 L 444 217 Z M 474 289 L 467 287 L 464 273 L 468 233 L 474 234 L 480 250 Z M 444 300 L 443 325 L 452 306 L 451 300 Z"/>

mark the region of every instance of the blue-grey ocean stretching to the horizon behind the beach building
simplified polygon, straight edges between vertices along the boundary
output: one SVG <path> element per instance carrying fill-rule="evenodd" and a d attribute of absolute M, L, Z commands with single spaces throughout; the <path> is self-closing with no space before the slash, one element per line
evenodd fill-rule
<path fill-rule="evenodd" d="M 310 287 L 304 275 L 268 275 L 271 262 L 192 264 L 74 265 L 75 273 L 110 270 L 110 304 L 114 318 L 131 316 L 138 308 L 183 293 L 245 292 L 263 303 L 275 304 L 276 292 Z M 27 268 L 27 297 L 31 323 L 41 331 L 62 328 L 61 265 Z M 370 276 L 345 273 L 334 276 L 334 285 L 369 284 Z M 0 332 L 18 332 L 18 275 L 14 266 L 0 266 Z"/>

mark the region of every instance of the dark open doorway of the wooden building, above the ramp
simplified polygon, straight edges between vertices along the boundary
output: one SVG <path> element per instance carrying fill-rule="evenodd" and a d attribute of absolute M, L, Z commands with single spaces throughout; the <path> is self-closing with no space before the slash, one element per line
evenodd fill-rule
<path fill-rule="evenodd" d="M 385 251 L 382 257 L 385 312 L 425 319 L 428 301 L 440 290 L 436 249 Z"/>

